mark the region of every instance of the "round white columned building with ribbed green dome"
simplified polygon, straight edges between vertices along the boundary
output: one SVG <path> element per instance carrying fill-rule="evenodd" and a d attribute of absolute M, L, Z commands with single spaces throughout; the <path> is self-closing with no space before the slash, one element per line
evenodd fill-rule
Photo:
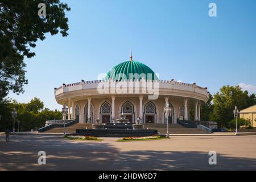
<path fill-rule="evenodd" d="M 80 123 L 94 123 L 97 118 L 113 122 L 123 113 L 130 122 L 139 117 L 143 123 L 175 124 L 177 119 L 189 119 L 190 107 L 195 110 L 194 120 L 200 121 L 200 106 L 208 98 L 207 88 L 196 83 L 158 80 L 152 69 L 132 56 L 111 69 L 104 80 L 55 88 L 57 103 L 68 106 L 68 119 L 78 118 Z M 168 103 L 173 112 L 167 120 L 164 107 Z"/>

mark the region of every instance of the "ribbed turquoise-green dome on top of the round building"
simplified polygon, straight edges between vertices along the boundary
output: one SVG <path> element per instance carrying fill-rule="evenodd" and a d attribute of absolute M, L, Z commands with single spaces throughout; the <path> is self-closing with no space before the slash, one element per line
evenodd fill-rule
<path fill-rule="evenodd" d="M 129 74 L 133 74 L 133 78 L 129 78 Z M 148 75 L 150 74 L 150 75 Z M 105 77 L 105 81 L 112 78 L 112 80 L 121 81 L 121 80 L 141 80 L 144 77 L 145 80 L 156 80 L 158 79 L 155 76 L 155 72 L 152 71 L 147 65 L 139 63 L 138 61 L 125 61 L 116 65 L 114 68 L 108 72 Z"/>

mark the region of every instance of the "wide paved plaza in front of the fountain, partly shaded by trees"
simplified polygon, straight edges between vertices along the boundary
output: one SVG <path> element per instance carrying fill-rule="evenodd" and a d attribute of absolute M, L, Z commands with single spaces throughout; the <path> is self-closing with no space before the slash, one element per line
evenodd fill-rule
<path fill-rule="evenodd" d="M 175 136 L 143 142 L 80 142 L 56 135 L 0 136 L 1 170 L 256 170 L 256 136 Z M 45 151 L 46 165 L 38 164 Z M 209 151 L 217 164 L 209 165 Z"/>

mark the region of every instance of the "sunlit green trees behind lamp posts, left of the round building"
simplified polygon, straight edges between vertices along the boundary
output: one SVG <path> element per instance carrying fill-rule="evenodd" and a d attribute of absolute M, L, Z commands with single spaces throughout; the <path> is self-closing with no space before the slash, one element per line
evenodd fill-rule
<path fill-rule="evenodd" d="M 15 107 L 18 115 L 15 118 L 15 128 L 18 128 L 18 121 L 20 121 L 20 131 L 30 131 L 31 129 L 43 127 L 47 120 L 61 119 L 61 111 L 43 109 L 43 102 L 39 98 L 34 98 L 27 104 L 18 103 L 16 101 L 6 100 L 1 104 L 0 111 L 2 114 L 1 130 L 5 127 L 13 128 L 13 118 L 11 117 L 11 110 Z"/>

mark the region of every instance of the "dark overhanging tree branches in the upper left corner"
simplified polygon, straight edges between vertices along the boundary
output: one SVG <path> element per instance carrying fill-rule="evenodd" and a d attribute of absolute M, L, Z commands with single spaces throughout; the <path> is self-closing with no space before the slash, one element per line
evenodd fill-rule
<path fill-rule="evenodd" d="M 39 3 L 46 5 L 46 16 L 38 15 Z M 46 39 L 45 34 L 67 36 L 68 18 L 65 11 L 71 10 L 59 0 L 0 0 L 0 99 L 10 90 L 24 92 L 24 57 L 33 57 L 38 39 Z"/>

